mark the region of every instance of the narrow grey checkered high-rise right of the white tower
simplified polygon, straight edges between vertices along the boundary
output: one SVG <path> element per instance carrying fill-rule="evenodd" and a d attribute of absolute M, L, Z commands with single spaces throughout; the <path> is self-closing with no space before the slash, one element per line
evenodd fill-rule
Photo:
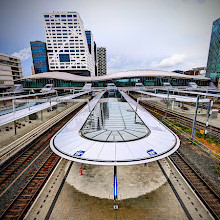
<path fill-rule="evenodd" d="M 98 47 L 97 48 L 97 57 L 98 57 L 98 76 L 106 75 L 106 48 Z"/>

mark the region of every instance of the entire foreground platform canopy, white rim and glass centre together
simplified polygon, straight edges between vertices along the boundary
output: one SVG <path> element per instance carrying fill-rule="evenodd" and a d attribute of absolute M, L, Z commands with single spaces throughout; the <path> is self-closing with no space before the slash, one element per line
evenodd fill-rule
<path fill-rule="evenodd" d="M 179 138 L 136 105 L 122 91 L 101 92 L 51 139 L 52 150 L 93 165 L 141 164 L 175 152 Z"/>

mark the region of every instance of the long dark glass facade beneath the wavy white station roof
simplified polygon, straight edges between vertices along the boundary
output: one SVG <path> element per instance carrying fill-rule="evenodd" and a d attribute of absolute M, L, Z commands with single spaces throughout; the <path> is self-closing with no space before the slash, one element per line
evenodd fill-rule
<path fill-rule="evenodd" d="M 133 77 L 123 79 L 113 79 L 106 81 L 92 82 L 93 87 L 107 87 L 108 83 L 114 83 L 117 87 L 134 87 L 135 83 L 142 83 L 144 86 L 163 86 L 164 82 L 169 82 L 172 86 L 187 86 L 189 82 L 195 82 L 198 86 L 208 86 L 208 80 L 192 80 L 165 77 Z M 21 82 L 24 88 L 41 88 L 46 84 L 54 84 L 54 87 L 83 87 L 85 82 L 73 82 L 60 79 L 27 79 Z"/>

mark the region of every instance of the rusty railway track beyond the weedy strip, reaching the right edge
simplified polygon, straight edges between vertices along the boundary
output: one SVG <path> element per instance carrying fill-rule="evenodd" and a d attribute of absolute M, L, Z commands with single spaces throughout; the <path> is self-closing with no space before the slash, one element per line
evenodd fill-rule
<path fill-rule="evenodd" d="M 137 100 L 137 95 L 131 95 L 130 96 Z M 162 116 L 165 116 L 166 115 L 166 109 L 162 108 L 161 106 L 157 106 L 157 105 L 150 105 L 150 104 L 147 104 L 146 102 L 143 102 L 141 101 L 140 104 L 146 108 L 147 110 L 149 110 L 151 113 L 156 113 L 156 114 L 160 114 Z M 188 118 L 182 114 L 178 114 L 176 112 L 171 112 L 168 110 L 167 112 L 167 117 L 170 117 L 170 118 L 173 118 L 175 121 L 177 122 L 180 122 L 184 125 L 187 125 L 189 127 L 192 127 L 193 125 L 193 119 L 191 118 Z M 206 128 L 206 124 L 203 123 L 203 122 L 200 122 L 200 121 L 196 121 L 196 129 L 205 129 Z M 218 127 L 215 127 L 215 126 L 208 126 L 208 130 L 209 130 L 209 133 L 216 136 L 217 138 L 220 139 L 220 128 Z"/>

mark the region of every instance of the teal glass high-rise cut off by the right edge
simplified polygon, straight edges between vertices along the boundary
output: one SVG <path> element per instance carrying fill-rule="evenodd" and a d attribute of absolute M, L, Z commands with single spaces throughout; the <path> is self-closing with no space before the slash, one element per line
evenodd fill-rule
<path fill-rule="evenodd" d="M 206 76 L 217 83 L 220 76 L 220 18 L 213 22 Z"/>

